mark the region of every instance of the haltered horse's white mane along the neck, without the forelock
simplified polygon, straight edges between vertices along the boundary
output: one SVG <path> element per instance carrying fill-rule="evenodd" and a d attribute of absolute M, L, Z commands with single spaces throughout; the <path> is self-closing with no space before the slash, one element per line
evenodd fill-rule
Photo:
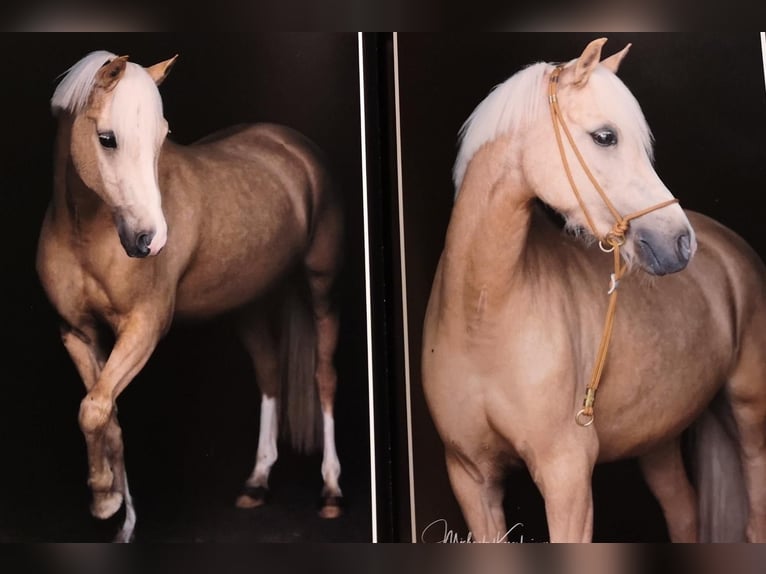
<path fill-rule="evenodd" d="M 468 162 L 481 146 L 537 119 L 541 105 L 547 102 L 543 97 L 544 76 L 549 68 L 550 64 L 539 62 L 516 72 L 476 106 L 458 136 L 460 149 L 452 170 L 455 195 L 463 183 Z"/>

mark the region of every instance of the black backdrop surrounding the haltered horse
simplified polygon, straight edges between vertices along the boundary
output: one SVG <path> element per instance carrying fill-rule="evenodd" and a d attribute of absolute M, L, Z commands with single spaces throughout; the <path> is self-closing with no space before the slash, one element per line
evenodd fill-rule
<path fill-rule="evenodd" d="M 416 532 L 444 518 L 465 535 L 442 444 L 420 386 L 422 321 L 443 247 L 454 188 L 457 132 L 496 84 L 537 61 L 567 61 L 607 36 L 604 55 L 627 42 L 620 77 L 656 139 L 656 169 L 687 209 L 708 214 L 766 256 L 766 93 L 760 38 L 749 34 L 400 34 L 403 203 L 413 401 Z M 555 150 L 551 150 L 555 154 Z M 672 381 L 667 381 L 672 384 Z M 608 381 L 607 381 L 608 384 Z M 509 526 L 547 540 L 543 501 L 524 471 L 508 480 Z M 667 540 L 660 509 L 635 462 L 597 467 L 597 541 Z M 514 538 L 517 539 L 517 538 Z"/>

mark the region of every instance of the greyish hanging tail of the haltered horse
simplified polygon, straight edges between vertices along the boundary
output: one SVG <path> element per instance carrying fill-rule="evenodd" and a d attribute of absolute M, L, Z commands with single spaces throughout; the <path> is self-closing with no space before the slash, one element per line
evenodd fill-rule
<path fill-rule="evenodd" d="M 737 428 L 723 394 L 690 429 L 691 470 L 699 499 L 700 542 L 743 542 L 747 490 Z"/>

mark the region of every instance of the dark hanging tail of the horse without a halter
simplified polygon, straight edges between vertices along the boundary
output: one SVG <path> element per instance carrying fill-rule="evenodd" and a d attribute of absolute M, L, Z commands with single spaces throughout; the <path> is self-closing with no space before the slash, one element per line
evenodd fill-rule
<path fill-rule="evenodd" d="M 316 328 L 308 280 L 296 274 L 285 287 L 281 330 L 281 432 L 298 452 L 322 443 L 319 393 L 314 380 Z"/>

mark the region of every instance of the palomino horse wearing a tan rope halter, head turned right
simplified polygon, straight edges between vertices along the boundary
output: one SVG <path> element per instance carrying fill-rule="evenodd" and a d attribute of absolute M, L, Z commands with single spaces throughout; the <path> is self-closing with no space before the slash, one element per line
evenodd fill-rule
<path fill-rule="evenodd" d="M 550 540 L 589 541 L 594 465 L 638 457 L 672 540 L 764 541 L 766 269 L 732 231 L 673 200 L 615 75 L 628 47 L 600 61 L 604 42 L 518 72 L 461 130 L 422 349 L 450 483 L 473 539 L 499 540 L 506 471 L 525 464 Z M 562 234 L 536 198 L 601 241 Z M 608 292 L 621 293 L 611 311 Z M 712 468 L 699 492 L 680 443 L 697 419 L 714 430 L 698 438 L 699 468 Z"/>

